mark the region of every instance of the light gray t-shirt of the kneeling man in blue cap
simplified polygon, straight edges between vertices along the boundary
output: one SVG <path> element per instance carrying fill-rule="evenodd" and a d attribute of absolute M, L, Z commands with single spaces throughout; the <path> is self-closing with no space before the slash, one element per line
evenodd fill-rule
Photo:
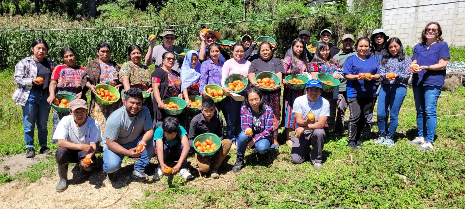
<path fill-rule="evenodd" d="M 329 102 L 325 98 L 319 97 L 317 101 L 310 102 L 307 95 L 295 98 L 292 113 L 302 113 L 302 118 L 307 119 L 308 113 L 315 114 L 315 122 L 318 122 L 320 116 L 329 117 Z M 298 127 L 297 123 L 295 124 Z"/>

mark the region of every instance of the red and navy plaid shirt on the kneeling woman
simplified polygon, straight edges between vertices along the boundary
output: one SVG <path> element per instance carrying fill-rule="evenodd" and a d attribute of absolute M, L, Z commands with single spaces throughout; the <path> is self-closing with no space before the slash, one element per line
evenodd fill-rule
<path fill-rule="evenodd" d="M 260 116 L 262 125 L 260 129 L 260 133 L 256 134 L 253 138 L 256 141 L 259 141 L 261 139 L 267 139 L 272 137 L 271 132 L 273 131 L 273 110 L 271 107 L 265 104 L 265 113 Z M 253 116 L 252 116 L 252 110 L 246 105 L 243 105 L 240 108 L 240 127 L 242 128 L 242 131 L 246 131 L 246 129 L 251 129 L 252 127 L 252 122 L 253 122 Z"/>

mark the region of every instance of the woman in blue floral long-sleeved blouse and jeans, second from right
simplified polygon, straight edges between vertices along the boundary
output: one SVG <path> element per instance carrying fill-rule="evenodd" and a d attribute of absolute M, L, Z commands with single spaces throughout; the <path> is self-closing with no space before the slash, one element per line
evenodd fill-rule
<path fill-rule="evenodd" d="M 407 94 L 408 78 L 410 78 L 411 59 L 405 55 L 399 38 L 393 37 L 386 43 L 386 48 L 379 72 L 383 81 L 378 96 L 379 138 L 373 144 L 394 145 L 394 133 L 399 123 L 399 110 Z M 386 116 L 389 112 L 389 116 Z M 391 117 L 389 132 L 386 136 L 386 122 Z"/>

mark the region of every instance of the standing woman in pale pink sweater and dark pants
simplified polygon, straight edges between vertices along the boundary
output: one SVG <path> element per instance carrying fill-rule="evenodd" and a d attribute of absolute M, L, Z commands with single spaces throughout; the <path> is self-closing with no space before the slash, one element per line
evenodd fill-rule
<path fill-rule="evenodd" d="M 233 74 L 239 73 L 244 77 L 249 76 L 250 61 L 244 59 L 244 52 L 246 47 L 241 43 L 236 43 L 233 46 L 233 58 L 225 62 L 222 69 L 221 85 L 223 91 L 226 94 L 226 98 L 222 101 L 222 109 L 226 119 L 226 138 L 229 138 L 233 142 L 232 148 L 237 149 L 236 139 L 241 132 L 240 129 L 240 107 L 242 101 L 236 101 L 231 97 L 232 90 L 225 85 L 226 78 Z M 245 88 L 247 89 L 248 86 Z M 246 91 L 242 91 L 240 94 L 245 96 Z"/>

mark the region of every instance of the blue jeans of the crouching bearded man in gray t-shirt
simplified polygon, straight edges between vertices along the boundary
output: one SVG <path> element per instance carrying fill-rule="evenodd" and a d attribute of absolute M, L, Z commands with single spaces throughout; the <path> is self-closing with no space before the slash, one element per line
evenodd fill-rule
<path fill-rule="evenodd" d="M 143 135 L 142 135 L 143 136 Z M 127 144 L 120 144 L 125 149 L 129 150 L 139 145 L 142 136 L 136 138 L 134 141 Z M 113 173 L 121 169 L 121 162 L 125 155 L 113 152 L 113 150 L 106 147 L 106 143 L 102 143 L 104 154 L 103 154 L 103 170 L 107 173 Z M 142 152 L 139 160 L 134 164 L 134 170 L 144 172 L 145 167 L 155 155 L 155 150 L 153 149 L 153 141 L 150 140 L 147 142 L 146 149 Z"/>

